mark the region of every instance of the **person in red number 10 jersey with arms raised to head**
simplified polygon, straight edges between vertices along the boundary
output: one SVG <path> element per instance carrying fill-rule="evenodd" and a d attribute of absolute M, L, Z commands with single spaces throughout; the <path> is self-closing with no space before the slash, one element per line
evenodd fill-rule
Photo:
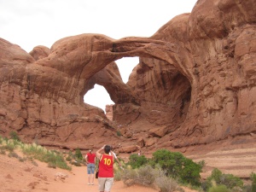
<path fill-rule="evenodd" d="M 102 152 L 104 152 L 102 154 Z M 110 153 L 110 154 L 109 154 Z M 113 185 L 113 153 L 109 145 L 104 145 L 96 151 L 99 158 L 98 183 L 100 192 L 110 192 Z"/>

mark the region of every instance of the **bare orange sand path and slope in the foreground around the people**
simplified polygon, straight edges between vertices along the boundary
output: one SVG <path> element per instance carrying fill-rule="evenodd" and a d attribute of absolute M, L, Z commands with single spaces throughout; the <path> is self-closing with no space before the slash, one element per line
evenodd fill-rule
<path fill-rule="evenodd" d="M 34 166 L 31 161 L 20 162 L 16 158 L 9 158 L 7 154 L 0 154 L 0 192 L 98 192 L 97 180 L 95 185 L 87 185 L 87 174 L 85 166 L 73 166 L 73 171 L 68 172 L 61 169 L 47 167 L 46 164 L 37 161 Z M 66 175 L 64 179 L 55 177 Z M 113 184 L 112 192 L 155 192 L 143 186 L 125 187 L 122 182 Z"/>

